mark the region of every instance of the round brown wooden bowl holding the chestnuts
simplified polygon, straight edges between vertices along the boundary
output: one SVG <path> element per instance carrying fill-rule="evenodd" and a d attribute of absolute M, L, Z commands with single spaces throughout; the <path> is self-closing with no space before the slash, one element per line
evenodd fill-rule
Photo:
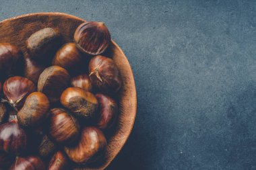
<path fill-rule="evenodd" d="M 12 17 L 0 22 L 0 42 L 9 42 L 19 46 L 26 57 L 28 55 L 26 52 L 26 40 L 32 33 L 42 28 L 51 27 L 61 32 L 65 42 L 72 42 L 75 29 L 82 22 L 85 22 L 85 20 L 65 13 L 31 13 Z M 115 32 L 112 34 L 115 34 Z M 114 41 L 112 41 L 108 49 L 108 54 L 113 56 L 113 60 L 115 60 L 115 63 L 119 67 L 123 79 L 123 88 L 119 96 L 121 112 L 117 128 L 115 132 L 108 137 L 108 146 L 102 161 L 96 165 L 75 167 L 74 169 L 88 170 L 106 168 L 117 156 L 133 128 L 137 108 L 133 72 L 131 71 L 125 54 Z"/>

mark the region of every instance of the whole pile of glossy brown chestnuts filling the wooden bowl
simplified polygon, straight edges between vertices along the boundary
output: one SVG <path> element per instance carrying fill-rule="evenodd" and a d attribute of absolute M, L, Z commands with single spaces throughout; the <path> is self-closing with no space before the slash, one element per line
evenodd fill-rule
<path fill-rule="evenodd" d="M 26 51 L 0 43 L 0 170 L 63 170 L 104 159 L 122 86 L 104 56 L 108 28 L 84 22 L 66 44 L 61 32 L 44 28 L 24 43 Z"/>

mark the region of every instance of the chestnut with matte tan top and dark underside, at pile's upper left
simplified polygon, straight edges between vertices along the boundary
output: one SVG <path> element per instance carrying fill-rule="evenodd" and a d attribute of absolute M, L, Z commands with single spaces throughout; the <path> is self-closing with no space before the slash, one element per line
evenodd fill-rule
<path fill-rule="evenodd" d="M 26 44 L 31 58 L 47 60 L 61 45 L 61 34 L 53 28 L 44 28 L 32 34 Z"/>

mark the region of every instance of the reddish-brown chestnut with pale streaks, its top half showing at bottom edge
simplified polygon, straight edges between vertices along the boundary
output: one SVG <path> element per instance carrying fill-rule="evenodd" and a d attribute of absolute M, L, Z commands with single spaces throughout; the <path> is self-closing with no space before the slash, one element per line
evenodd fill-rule
<path fill-rule="evenodd" d="M 39 157 L 16 157 L 9 170 L 45 170 L 45 167 Z"/>

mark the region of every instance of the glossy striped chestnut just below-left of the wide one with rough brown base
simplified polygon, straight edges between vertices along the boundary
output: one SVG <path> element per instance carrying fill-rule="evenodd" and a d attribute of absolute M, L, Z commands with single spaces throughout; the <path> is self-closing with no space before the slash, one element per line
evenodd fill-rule
<path fill-rule="evenodd" d="M 71 143 L 79 135 L 79 123 L 67 111 L 59 108 L 51 110 L 49 134 L 59 143 Z"/>

